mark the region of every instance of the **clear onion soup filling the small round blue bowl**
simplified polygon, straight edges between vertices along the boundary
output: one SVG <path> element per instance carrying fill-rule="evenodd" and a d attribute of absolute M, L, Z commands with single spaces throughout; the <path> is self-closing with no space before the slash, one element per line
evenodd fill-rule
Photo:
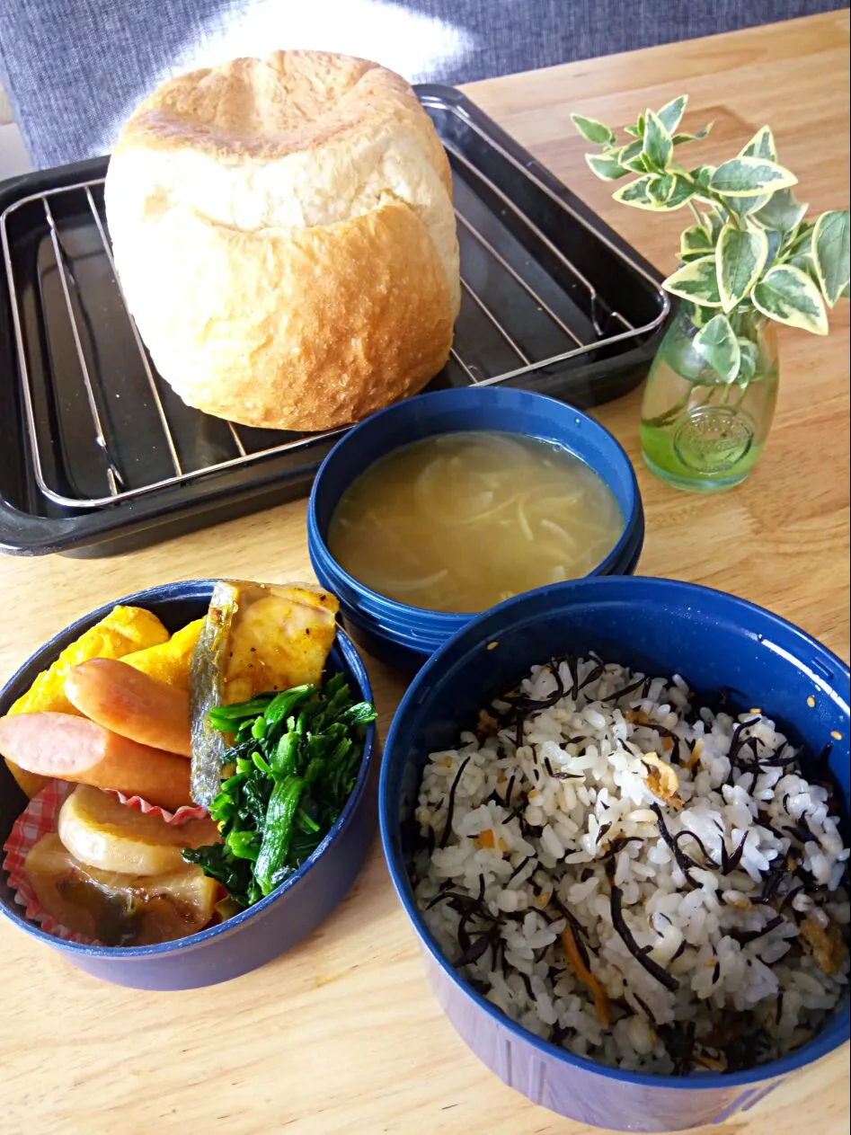
<path fill-rule="evenodd" d="M 612 489 L 567 449 L 475 430 L 371 464 L 342 495 L 328 547 L 380 595 L 466 613 L 587 575 L 623 528 Z"/>

